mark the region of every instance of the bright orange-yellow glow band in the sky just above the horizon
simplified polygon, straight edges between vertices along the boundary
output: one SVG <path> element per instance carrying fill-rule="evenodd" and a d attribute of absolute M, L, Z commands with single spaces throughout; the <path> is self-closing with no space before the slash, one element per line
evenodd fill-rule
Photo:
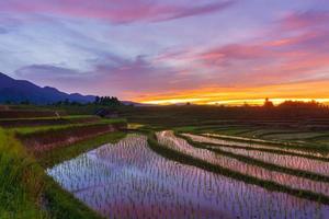
<path fill-rule="evenodd" d="M 307 88 L 307 89 L 306 89 Z M 203 88 L 190 91 L 172 91 L 171 94 L 149 94 L 137 99 L 146 104 L 215 104 L 215 105 L 262 105 L 269 97 L 274 104 L 284 101 L 317 101 L 329 103 L 329 81 L 277 84 L 256 88 Z"/>

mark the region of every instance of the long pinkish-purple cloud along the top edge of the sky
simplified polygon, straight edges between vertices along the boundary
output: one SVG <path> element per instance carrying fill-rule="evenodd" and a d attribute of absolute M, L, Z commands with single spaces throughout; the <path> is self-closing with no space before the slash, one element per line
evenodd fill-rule
<path fill-rule="evenodd" d="M 104 19 L 112 23 L 139 21 L 159 22 L 215 13 L 230 7 L 235 0 L 212 3 L 163 3 L 148 0 L 8 0 L 0 2 L 0 12 L 53 13 L 73 18 Z"/>

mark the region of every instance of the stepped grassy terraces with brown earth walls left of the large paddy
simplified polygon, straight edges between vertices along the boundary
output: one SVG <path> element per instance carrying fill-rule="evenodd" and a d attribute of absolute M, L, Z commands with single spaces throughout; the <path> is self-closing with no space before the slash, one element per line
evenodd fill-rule
<path fill-rule="evenodd" d="M 8 191 L 18 189 L 18 199 L 8 199 L 3 196 L 5 194 L 1 195 L 1 212 L 4 214 L 1 217 L 13 214 L 21 218 L 102 218 L 64 191 L 45 174 L 44 168 L 69 160 L 103 143 L 116 142 L 125 136 L 126 127 L 126 120 L 121 118 L 71 116 L 65 112 L 34 107 L 1 110 L 0 137 L 5 139 L 1 137 L 0 149 L 7 150 L 7 147 L 11 147 L 13 152 L 8 153 L 8 157 L 12 161 L 16 160 L 16 163 L 7 163 L 4 159 L 0 159 L 0 169 L 11 171 L 15 177 L 12 181 L 9 178 L 9 184 L 1 182 L 1 185 L 5 184 Z M 26 161 L 20 163 L 20 159 Z M 21 178 L 26 173 L 32 174 L 29 182 Z M 35 191 L 35 194 L 29 195 L 31 191 Z M 25 194 L 26 197 L 19 194 Z M 22 209 L 8 211 L 10 206 L 22 206 Z"/>

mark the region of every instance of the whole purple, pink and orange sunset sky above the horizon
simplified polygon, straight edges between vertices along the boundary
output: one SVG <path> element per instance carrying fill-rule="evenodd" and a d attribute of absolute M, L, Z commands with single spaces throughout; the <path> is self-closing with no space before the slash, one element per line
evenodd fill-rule
<path fill-rule="evenodd" d="M 1 0 L 0 64 L 143 103 L 329 102 L 329 1 Z"/>

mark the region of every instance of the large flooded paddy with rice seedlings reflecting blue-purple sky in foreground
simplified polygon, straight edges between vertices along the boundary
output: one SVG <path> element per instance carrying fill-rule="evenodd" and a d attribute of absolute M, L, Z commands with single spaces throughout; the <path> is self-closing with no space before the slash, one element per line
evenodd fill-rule
<path fill-rule="evenodd" d="M 329 217 L 329 206 L 167 160 L 139 135 L 104 145 L 47 173 L 106 218 Z"/>

